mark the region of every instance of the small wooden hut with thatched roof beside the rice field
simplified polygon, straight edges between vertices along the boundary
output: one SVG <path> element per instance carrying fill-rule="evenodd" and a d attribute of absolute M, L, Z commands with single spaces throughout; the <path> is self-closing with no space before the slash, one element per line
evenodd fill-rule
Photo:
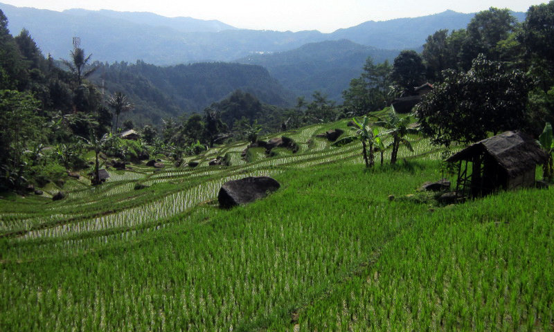
<path fill-rule="evenodd" d="M 447 159 L 458 163 L 458 196 L 481 196 L 503 189 L 535 185 L 537 164 L 546 160 L 533 138 L 506 131 L 481 140 Z"/>

